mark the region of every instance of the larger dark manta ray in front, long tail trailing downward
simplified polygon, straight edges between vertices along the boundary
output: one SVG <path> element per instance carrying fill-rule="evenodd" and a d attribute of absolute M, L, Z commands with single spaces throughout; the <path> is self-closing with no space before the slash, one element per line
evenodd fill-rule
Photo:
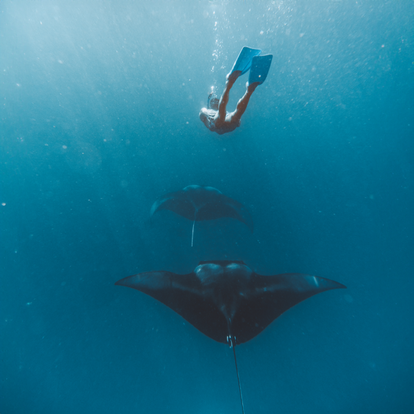
<path fill-rule="evenodd" d="M 323 277 L 285 273 L 262 276 L 241 260 L 199 262 L 188 275 L 139 273 L 115 283 L 140 290 L 177 312 L 211 339 L 233 348 L 259 335 L 292 306 L 317 293 L 346 288 Z"/>

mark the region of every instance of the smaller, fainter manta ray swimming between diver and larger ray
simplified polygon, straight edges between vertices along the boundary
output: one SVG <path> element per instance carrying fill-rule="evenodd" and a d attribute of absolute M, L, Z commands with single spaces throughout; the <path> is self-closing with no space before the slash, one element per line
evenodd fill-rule
<path fill-rule="evenodd" d="M 191 246 L 195 221 L 231 217 L 242 221 L 253 233 L 253 219 L 246 207 L 213 187 L 187 186 L 174 193 L 168 193 L 152 204 L 150 217 L 159 210 L 171 210 L 193 221 Z"/>

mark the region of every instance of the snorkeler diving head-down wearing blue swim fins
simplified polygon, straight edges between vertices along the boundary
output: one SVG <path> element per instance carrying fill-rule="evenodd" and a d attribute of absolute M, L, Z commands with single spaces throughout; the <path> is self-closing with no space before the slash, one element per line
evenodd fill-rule
<path fill-rule="evenodd" d="M 261 85 L 268 75 L 273 55 L 259 56 L 262 50 L 251 49 L 246 46 L 239 53 L 232 70 L 226 76 L 226 86 L 220 100 L 213 98 L 213 91 L 208 95 L 207 108 L 202 108 L 199 114 L 201 121 L 212 132 L 222 135 L 234 131 L 240 126 L 240 119 L 247 108 L 248 101 L 257 86 Z M 234 112 L 227 112 L 226 106 L 230 89 L 240 75 L 250 69 L 246 93 L 237 102 Z"/>

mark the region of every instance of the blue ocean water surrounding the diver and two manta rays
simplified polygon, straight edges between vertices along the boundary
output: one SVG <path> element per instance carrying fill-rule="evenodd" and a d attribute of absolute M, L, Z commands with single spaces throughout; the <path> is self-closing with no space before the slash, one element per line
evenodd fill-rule
<path fill-rule="evenodd" d="M 240 413 L 232 351 L 114 283 L 242 259 L 345 284 L 237 346 L 246 413 L 414 411 L 413 1 L 0 3 L 1 414 Z M 272 53 L 228 135 L 199 121 Z M 230 92 L 233 110 L 246 75 Z M 190 184 L 242 202 L 192 223 Z"/>

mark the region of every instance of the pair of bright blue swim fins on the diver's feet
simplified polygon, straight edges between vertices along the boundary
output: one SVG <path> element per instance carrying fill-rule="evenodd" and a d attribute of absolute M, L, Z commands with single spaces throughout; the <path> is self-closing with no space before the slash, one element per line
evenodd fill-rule
<path fill-rule="evenodd" d="M 240 75 L 244 75 L 244 73 L 250 70 L 250 74 L 248 75 L 249 85 L 253 82 L 262 84 L 268 75 L 273 55 L 259 56 L 260 53 L 262 53 L 260 49 L 252 49 L 244 46 L 228 75 L 235 72 L 235 70 L 241 70 L 242 73 Z"/>

